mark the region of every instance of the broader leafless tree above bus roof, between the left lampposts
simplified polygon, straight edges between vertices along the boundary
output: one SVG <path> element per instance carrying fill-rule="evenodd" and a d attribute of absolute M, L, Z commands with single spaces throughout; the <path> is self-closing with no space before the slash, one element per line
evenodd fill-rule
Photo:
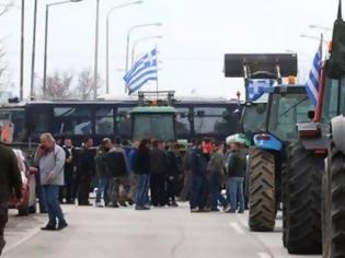
<path fill-rule="evenodd" d="M 73 80 L 71 72 L 55 72 L 54 75 L 47 77 L 47 89 L 44 98 L 47 99 L 65 99 L 70 97 L 70 86 Z"/>

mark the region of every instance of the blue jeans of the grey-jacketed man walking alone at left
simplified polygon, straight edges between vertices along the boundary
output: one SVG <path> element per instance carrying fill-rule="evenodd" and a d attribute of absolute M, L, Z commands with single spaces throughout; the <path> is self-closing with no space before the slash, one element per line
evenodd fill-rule
<path fill-rule="evenodd" d="M 46 185 L 43 186 L 44 200 L 49 216 L 48 225 L 55 227 L 56 220 L 59 224 L 66 223 L 64 213 L 59 203 L 59 188 L 60 186 Z"/>

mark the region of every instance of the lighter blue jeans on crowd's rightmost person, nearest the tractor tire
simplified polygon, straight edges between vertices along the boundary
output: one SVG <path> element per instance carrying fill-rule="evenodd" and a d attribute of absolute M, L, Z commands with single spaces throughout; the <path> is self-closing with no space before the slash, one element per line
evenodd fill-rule
<path fill-rule="evenodd" d="M 238 204 L 241 211 L 244 210 L 244 192 L 243 192 L 244 178 L 230 177 L 228 180 L 228 190 L 230 196 L 230 206 L 232 210 L 237 210 Z"/>

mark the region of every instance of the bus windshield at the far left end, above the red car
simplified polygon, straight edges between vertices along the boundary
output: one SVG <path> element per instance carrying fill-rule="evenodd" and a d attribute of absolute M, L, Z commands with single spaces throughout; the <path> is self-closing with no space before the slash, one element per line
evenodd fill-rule
<path fill-rule="evenodd" d="M 27 137 L 27 130 L 25 128 L 25 110 L 18 109 L 1 109 L 0 110 L 0 129 L 4 128 L 9 124 L 13 127 L 13 143 L 24 142 Z"/>

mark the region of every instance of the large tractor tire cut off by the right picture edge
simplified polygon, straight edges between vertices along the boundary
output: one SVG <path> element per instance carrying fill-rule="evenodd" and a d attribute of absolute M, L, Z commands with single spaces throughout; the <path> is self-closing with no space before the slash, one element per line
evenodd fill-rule
<path fill-rule="evenodd" d="M 334 143 L 323 181 L 323 257 L 345 257 L 345 155 Z"/>

